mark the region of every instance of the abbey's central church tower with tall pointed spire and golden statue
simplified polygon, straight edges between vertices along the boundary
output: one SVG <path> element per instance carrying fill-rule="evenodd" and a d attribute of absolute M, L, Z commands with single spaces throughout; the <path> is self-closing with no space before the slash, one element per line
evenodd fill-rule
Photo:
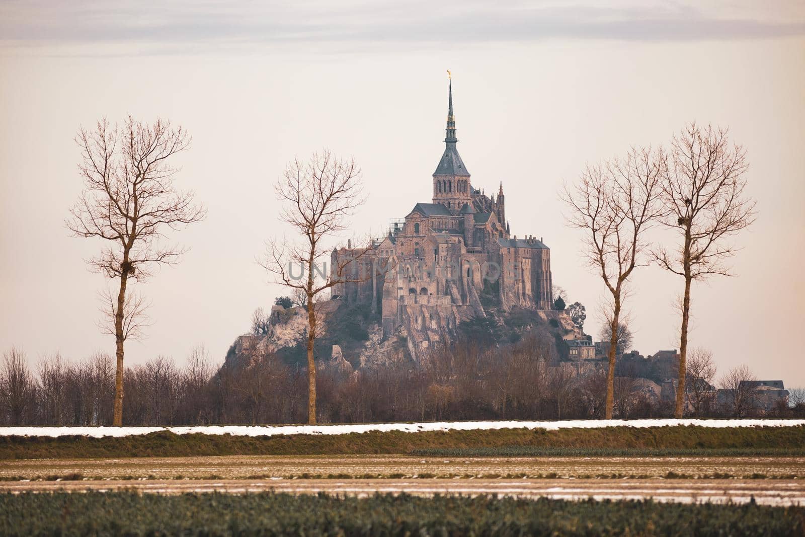
<path fill-rule="evenodd" d="M 453 214 L 473 204 L 469 171 L 456 150 L 456 118 L 452 111 L 452 80 L 448 82 L 448 123 L 444 153 L 433 172 L 433 203 L 444 204 Z"/>

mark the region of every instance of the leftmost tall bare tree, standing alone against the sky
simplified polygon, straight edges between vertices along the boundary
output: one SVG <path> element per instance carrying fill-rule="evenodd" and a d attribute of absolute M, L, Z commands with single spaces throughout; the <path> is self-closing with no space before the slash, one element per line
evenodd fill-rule
<path fill-rule="evenodd" d="M 118 129 L 102 120 L 95 130 L 82 128 L 76 143 L 81 147 L 84 191 L 67 226 L 76 237 L 105 241 L 89 265 L 118 283 L 105 312 L 117 357 L 113 424 L 120 426 L 123 345 L 126 338 L 139 335 L 145 308 L 141 298 L 127 295 L 129 279 L 140 282 L 152 266 L 175 263 L 184 250 L 161 244 L 164 233 L 200 221 L 204 209 L 194 204 L 192 192 L 180 192 L 173 184 L 178 169 L 169 161 L 190 143 L 181 127 L 171 128 L 161 119 L 148 125 L 128 117 Z"/>

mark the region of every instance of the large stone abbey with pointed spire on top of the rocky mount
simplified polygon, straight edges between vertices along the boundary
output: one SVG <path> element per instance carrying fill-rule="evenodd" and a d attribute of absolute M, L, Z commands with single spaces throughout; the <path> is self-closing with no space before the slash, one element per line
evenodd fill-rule
<path fill-rule="evenodd" d="M 489 308 L 550 310 L 553 304 L 551 250 L 531 235 L 510 235 L 502 182 L 497 196 L 473 188 L 456 148 L 452 81 L 448 88 L 447 136 L 432 176 L 431 203 L 415 204 L 348 265 L 365 275 L 361 281 L 332 288 L 332 298 L 379 314 L 384 335 L 405 325 L 409 340 L 413 336 L 421 348 Z M 332 270 L 357 253 L 333 250 Z"/>

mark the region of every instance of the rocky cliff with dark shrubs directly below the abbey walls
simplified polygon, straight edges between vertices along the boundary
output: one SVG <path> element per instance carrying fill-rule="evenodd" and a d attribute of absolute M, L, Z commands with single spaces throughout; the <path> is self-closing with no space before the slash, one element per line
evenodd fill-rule
<path fill-rule="evenodd" d="M 398 361 L 411 361 L 413 365 L 434 345 L 486 336 L 506 345 L 535 329 L 550 333 L 561 355 L 564 349 L 560 342 L 580 336 L 564 312 L 490 309 L 478 315 L 480 303 L 477 307 L 456 306 L 431 298 L 423 296 L 421 302 L 399 308 L 398 328 L 385 336 L 379 316 L 364 311 L 366 308 L 349 307 L 339 299 L 317 304 L 320 316 L 316 359 L 332 362 L 340 370 L 345 370 L 346 365 L 355 370 Z M 307 357 L 307 336 L 306 310 L 275 306 L 268 333 L 237 337 L 228 359 L 245 353 L 274 353 L 290 364 L 302 365 Z"/>

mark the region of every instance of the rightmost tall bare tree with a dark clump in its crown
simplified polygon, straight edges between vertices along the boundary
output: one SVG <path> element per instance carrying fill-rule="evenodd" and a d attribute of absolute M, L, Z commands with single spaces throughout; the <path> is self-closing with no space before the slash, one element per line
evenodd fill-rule
<path fill-rule="evenodd" d="M 671 145 L 671 167 L 663 176 L 664 223 L 675 229 L 679 243 L 671 251 L 658 248 L 654 257 L 664 269 L 684 279 L 675 407 L 676 417 L 681 418 L 691 283 L 730 274 L 726 259 L 736 248 L 728 240 L 753 223 L 755 202 L 744 196 L 744 174 L 749 167 L 746 151 L 729 143 L 727 130 L 691 123 Z"/>

